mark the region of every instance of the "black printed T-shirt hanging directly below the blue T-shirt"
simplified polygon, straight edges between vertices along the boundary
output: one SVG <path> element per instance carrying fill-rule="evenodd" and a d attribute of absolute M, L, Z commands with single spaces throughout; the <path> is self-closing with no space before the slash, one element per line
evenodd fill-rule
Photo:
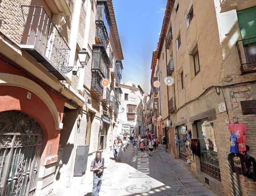
<path fill-rule="evenodd" d="M 228 154 L 228 160 L 230 161 L 232 172 L 237 174 L 246 174 L 246 157 L 244 155 L 240 153 L 230 153 Z"/>

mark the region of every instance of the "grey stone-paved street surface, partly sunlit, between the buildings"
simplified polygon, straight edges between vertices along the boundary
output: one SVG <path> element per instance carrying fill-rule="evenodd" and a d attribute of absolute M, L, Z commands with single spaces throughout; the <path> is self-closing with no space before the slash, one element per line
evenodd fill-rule
<path fill-rule="evenodd" d="M 100 196 L 216 196 L 162 148 L 149 157 L 148 153 L 132 153 L 130 145 L 121 163 L 106 155 L 105 160 Z M 92 173 L 86 172 L 84 179 L 54 195 L 90 196 Z"/>

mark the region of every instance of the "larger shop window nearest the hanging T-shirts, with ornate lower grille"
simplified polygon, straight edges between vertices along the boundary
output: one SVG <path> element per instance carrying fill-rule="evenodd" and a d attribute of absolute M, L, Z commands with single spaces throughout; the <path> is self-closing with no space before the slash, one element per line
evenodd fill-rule
<path fill-rule="evenodd" d="M 196 127 L 200 143 L 201 161 L 219 167 L 213 122 L 200 121 L 196 123 Z"/>

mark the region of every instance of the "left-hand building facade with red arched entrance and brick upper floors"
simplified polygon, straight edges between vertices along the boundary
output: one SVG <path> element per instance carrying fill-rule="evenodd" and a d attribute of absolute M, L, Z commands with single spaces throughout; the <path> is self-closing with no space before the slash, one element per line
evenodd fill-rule
<path fill-rule="evenodd" d="M 114 8 L 2 0 L 0 11 L 0 194 L 49 195 L 81 182 L 95 152 L 112 146 L 123 69 Z"/>

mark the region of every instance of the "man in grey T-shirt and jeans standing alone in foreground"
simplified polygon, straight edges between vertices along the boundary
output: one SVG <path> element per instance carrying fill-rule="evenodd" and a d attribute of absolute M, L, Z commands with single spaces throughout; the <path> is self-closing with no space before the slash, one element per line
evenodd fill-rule
<path fill-rule="evenodd" d="M 90 171 L 93 172 L 92 196 L 99 195 L 104 169 L 106 169 L 104 158 L 102 158 L 101 152 L 97 151 L 95 159 L 92 160 L 90 169 Z"/>

